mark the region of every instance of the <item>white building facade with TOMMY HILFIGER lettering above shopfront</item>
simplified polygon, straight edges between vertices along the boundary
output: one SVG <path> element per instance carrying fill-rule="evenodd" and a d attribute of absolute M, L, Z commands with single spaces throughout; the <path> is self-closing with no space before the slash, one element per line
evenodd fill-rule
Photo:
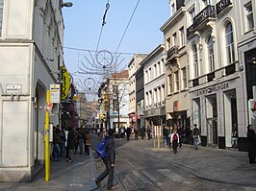
<path fill-rule="evenodd" d="M 255 1 L 194 0 L 185 7 L 191 124 L 199 127 L 202 146 L 243 151 L 249 123 L 244 54 L 255 48 L 249 13 Z"/>

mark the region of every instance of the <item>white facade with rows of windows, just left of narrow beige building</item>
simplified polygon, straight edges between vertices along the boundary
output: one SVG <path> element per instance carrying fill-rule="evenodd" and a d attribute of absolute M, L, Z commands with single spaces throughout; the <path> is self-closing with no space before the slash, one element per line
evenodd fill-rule
<path fill-rule="evenodd" d="M 144 119 L 145 128 L 152 129 L 155 134 L 155 126 L 166 123 L 165 104 L 165 46 L 156 47 L 144 60 Z"/>

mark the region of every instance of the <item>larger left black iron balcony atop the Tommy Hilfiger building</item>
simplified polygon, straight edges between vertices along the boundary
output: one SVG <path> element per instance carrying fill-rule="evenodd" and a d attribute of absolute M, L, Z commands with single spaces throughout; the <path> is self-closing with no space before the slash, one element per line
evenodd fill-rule
<path fill-rule="evenodd" d="M 192 36 L 195 31 L 204 28 L 206 24 L 216 18 L 215 6 L 208 5 L 201 12 L 196 14 L 192 19 L 192 26 L 187 29 L 187 37 Z"/>

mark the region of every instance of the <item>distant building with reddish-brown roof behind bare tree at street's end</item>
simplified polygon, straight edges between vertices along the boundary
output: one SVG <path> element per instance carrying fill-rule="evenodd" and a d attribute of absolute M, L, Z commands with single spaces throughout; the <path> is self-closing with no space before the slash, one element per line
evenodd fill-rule
<path fill-rule="evenodd" d="M 101 127 L 115 129 L 128 127 L 129 107 L 128 70 L 114 73 L 99 88 Z"/>

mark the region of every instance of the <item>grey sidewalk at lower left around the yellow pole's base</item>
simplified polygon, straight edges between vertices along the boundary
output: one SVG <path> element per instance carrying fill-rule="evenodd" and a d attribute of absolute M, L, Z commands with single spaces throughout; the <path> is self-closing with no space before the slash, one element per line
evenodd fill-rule
<path fill-rule="evenodd" d="M 87 191 L 97 175 L 93 155 L 76 154 L 72 163 L 64 157 L 61 161 L 51 161 L 48 182 L 44 181 L 44 169 L 41 169 L 32 182 L 0 182 L 0 190 Z"/>

